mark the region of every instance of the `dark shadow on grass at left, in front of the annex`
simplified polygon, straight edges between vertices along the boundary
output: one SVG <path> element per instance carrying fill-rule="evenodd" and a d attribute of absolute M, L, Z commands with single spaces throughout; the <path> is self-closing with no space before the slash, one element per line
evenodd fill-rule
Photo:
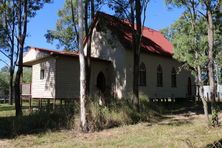
<path fill-rule="evenodd" d="M 54 111 L 37 110 L 21 117 L 0 117 L 0 139 L 73 128 L 74 112 L 73 107 L 61 107 Z"/>

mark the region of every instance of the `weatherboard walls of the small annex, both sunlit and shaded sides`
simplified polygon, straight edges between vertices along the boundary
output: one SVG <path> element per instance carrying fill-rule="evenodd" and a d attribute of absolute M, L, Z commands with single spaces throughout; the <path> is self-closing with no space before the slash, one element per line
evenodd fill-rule
<path fill-rule="evenodd" d="M 111 90 L 112 69 L 108 61 L 91 61 L 91 95 L 97 95 L 97 76 L 103 72 L 106 79 L 106 91 Z M 45 78 L 40 79 L 41 69 Z M 32 98 L 79 98 L 79 59 L 57 56 L 39 61 L 32 66 Z"/>

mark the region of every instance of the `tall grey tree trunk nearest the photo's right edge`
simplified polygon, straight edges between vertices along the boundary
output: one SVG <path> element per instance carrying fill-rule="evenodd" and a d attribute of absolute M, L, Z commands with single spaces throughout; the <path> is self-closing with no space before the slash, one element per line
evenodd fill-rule
<path fill-rule="evenodd" d="M 215 106 L 216 101 L 216 85 L 215 85 L 215 73 L 214 73 L 214 55 L 213 55 L 213 48 L 214 48 L 214 28 L 213 28 L 213 18 L 212 18 L 211 10 L 207 10 L 207 27 L 208 27 L 208 78 L 210 84 L 210 99 L 211 99 L 211 112 L 212 112 L 212 122 L 213 126 L 218 124 L 218 115 L 217 109 Z"/>

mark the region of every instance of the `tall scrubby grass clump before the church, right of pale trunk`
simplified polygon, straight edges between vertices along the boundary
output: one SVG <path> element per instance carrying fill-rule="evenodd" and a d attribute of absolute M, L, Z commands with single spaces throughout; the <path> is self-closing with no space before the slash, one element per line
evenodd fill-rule
<path fill-rule="evenodd" d="M 150 118 L 159 115 L 159 108 L 147 99 L 141 99 L 140 112 L 137 112 L 132 103 L 127 100 L 111 100 L 107 106 L 99 105 L 98 100 L 88 103 L 89 114 L 87 117 L 90 131 L 150 121 Z"/>

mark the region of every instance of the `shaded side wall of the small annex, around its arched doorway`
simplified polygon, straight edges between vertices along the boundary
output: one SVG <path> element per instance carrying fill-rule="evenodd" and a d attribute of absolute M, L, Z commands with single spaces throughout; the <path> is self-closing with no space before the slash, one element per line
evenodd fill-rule
<path fill-rule="evenodd" d="M 103 72 L 106 78 L 106 90 L 111 88 L 110 63 L 102 61 L 91 62 L 91 95 L 97 95 L 97 76 Z M 56 60 L 56 98 L 79 97 L 79 59 L 58 57 Z"/>

